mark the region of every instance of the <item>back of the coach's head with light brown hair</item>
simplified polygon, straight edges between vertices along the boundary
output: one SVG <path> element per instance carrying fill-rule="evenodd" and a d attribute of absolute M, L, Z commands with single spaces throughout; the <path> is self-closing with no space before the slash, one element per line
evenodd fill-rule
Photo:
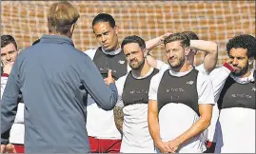
<path fill-rule="evenodd" d="M 49 7 L 49 33 L 65 35 L 71 38 L 74 26 L 80 14 L 69 2 L 54 3 Z"/>

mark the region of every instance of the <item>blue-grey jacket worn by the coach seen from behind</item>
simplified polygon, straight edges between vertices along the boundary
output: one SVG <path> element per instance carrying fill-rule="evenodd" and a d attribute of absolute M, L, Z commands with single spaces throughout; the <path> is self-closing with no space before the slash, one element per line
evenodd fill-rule
<path fill-rule="evenodd" d="M 43 35 L 17 56 L 1 101 L 1 144 L 8 143 L 20 93 L 26 153 L 89 152 L 88 95 L 106 110 L 117 102 L 115 85 L 107 87 L 89 56 L 59 35 Z"/>

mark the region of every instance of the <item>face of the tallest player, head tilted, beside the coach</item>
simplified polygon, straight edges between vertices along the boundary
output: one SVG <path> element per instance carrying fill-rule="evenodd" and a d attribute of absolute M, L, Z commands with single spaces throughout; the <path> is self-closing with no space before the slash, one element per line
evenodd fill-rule
<path fill-rule="evenodd" d="M 112 51 L 118 46 L 117 27 L 111 28 L 108 22 L 99 22 L 92 29 L 97 41 L 106 51 Z"/>

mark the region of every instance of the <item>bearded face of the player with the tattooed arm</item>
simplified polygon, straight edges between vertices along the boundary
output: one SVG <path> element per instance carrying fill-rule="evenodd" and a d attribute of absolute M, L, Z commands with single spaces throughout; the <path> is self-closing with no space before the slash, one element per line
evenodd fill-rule
<path fill-rule="evenodd" d="M 136 70 L 144 66 L 144 53 L 138 44 L 127 44 L 124 46 L 123 50 L 126 55 L 129 67 Z"/>

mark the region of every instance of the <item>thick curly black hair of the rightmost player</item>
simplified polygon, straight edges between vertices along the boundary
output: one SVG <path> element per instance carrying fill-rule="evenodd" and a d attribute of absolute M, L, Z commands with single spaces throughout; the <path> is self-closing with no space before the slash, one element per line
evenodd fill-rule
<path fill-rule="evenodd" d="M 247 49 L 247 57 L 254 57 L 255 59 L 256 39 L 255 37 L 248 34 L 237 35 L 231 38 L 226 44 L 227 54 L 229 54 L 231 48 L 245 48 Z"/>

